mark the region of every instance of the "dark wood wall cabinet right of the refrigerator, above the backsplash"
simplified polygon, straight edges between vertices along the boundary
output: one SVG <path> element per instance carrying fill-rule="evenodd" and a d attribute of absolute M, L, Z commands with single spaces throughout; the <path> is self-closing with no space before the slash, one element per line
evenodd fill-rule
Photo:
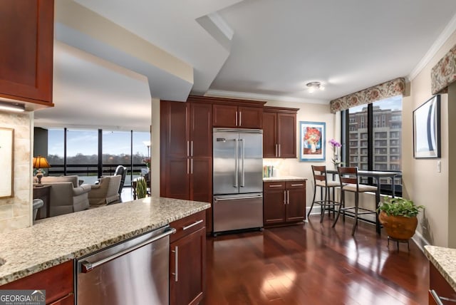
<path fill-rule="evenodd" d="M 264 107 L 263 157 L 296 157 L 297 108 Z"/>

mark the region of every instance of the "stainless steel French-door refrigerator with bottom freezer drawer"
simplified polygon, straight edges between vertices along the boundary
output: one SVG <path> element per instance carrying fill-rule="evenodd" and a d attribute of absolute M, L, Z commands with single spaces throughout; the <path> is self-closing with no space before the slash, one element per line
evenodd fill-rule
<path fill-rule="evenodd" d="M 213 130 L 213 232 L 263 227 L 263 130 Z"/>

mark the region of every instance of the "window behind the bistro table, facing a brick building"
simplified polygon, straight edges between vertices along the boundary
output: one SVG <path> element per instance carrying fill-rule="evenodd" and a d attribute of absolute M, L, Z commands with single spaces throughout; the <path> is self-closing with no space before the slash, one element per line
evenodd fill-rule
<path fill-rule="evenodd" d="M 386 98 L 368 105 L 343 111 L 343 143 L 345 163 L 360 170 L 402 170 L 402 96 Z M 363 183 L 373 183 L 368 178 Z M 375 182 L 374 182 L 375 183 Z M 389 178 L 381 181 L 383 190 L 390 190 Z M 395 192 L 402 192 L 400 178 Z"/>

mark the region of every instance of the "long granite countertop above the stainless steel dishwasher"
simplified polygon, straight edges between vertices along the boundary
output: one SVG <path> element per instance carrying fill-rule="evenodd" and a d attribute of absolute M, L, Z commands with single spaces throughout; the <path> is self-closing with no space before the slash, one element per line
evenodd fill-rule
<path fill-rule="evenodd" d="M 207 202 L 147 197 L 51 217 L 31 227 L 2 233 L 0 285 L 83 257 L 209 207 Z"/>

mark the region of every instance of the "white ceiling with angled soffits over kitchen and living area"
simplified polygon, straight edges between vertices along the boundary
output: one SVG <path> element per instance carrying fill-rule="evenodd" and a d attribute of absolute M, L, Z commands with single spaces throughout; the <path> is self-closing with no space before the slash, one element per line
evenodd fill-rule
<path fill-rule="evenodd" d="M 414 77 L 432 55 L 427 52 L 456 29 L 454 0 L 56 3 L 56 106 L 36 112 L 42 126 L 148 130 L 151 96 L 185 100 L 190 92 L 328 103 Z M 103 40 L 111 30 L 91 25 L 93 19 L 76 19 L 86 23 L 86 32 L 74 21 L 67 24 L 64 6 L 90 10 L 161 48 L 188 64 L 193 79 L 154 66 L 138 56 L 140 50 L 125 51 L 118 47 L 123 41 Z M 325 91 L 308 93 L 310 81 L 321 81 Z"/>

